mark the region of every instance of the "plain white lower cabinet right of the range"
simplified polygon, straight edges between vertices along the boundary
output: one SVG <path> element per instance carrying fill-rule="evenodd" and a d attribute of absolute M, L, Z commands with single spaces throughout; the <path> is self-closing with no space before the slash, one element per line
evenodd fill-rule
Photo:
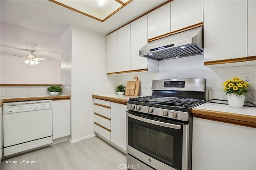
<path fill-rule="evenodd" d="M 256 128 L 193 117 L 193 170 L 255 170 Z"/>

